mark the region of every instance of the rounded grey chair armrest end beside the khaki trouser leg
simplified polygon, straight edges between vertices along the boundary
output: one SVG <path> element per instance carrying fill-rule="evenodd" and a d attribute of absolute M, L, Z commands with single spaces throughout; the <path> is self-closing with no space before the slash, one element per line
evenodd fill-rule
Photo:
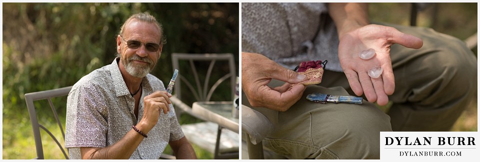
<path fill-rule="evenodd" d="M 254 145 L 273 132 L 273 124 L 260 112 L 241 105 L 241 131 L 249 135 Z"/>

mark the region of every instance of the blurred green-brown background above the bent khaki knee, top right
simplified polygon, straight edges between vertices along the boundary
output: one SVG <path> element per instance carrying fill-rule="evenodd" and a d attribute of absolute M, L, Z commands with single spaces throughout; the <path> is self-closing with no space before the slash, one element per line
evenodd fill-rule
<path fill-rule="evenodd" d="M 425 3 L 417 12 L 417 26 L 430 27 L 461 40 L 477 32 L 477 3 Z M 410 25 L 411 3 L 370 3 L 370 20 Z M 472 49 L 475 56 L 477 47 Z"/>

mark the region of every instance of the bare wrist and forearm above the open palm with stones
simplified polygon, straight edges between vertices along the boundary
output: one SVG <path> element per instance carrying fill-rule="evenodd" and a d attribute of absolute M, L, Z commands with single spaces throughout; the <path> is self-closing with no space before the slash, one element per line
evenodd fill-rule
<path fill-rule="evenodd" d="M 370 23 L 367 3 L 328 3 L 328 13 L 335 22 L 338 38 Z"/>

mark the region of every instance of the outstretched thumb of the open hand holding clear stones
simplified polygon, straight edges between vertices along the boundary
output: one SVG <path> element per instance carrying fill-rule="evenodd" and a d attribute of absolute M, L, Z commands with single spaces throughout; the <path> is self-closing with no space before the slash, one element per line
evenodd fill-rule
<path fill-rule="evenodd" d="M 421 48 L 421 46 L 423 45 L 423 41 L 420 38 L 410 34 L 402 33 L 393 27 L 391 27 L 390 32 L 391 32 L 390 42 L 398 43 L 405 47 L 414 48 L 414 49 Z"/>

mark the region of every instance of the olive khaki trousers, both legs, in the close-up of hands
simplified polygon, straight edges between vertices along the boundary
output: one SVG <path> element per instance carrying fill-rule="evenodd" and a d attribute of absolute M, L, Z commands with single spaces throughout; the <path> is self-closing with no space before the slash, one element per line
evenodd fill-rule
<path fill-rule="evenodd" d="M 325 70 L 322 83 L 309 85 L 289 110 L 254 108 L 275 127 L 264 148 L 287 159 L 379 159 L 379 132 L 448 131 L 476 100 L 475 56 L 462 41 L 431 29 L 388 26 L 420 37 L 423 47 L 391 46 L 395 92 L 387 115 L 366 100 L 361 105 L 306 100 L 313 92 L 354 95 L 343 73 Z M 244 95 L 242 104 L 250 106 Z"/>

